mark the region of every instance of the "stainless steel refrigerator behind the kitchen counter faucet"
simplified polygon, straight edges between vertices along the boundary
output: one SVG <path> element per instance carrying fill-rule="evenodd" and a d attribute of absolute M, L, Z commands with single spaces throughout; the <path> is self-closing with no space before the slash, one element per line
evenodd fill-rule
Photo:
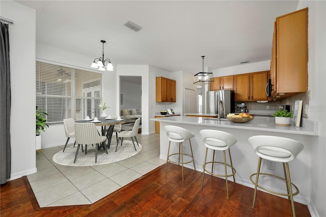
<path fill-rule="evenodd" d="M 226 118 L 229 113 L 235 112 L 234 91 L 220 90 L 207 91 L 206 113 L 218 115 L 218 106 L 220 106 L 221 118 Z"/>

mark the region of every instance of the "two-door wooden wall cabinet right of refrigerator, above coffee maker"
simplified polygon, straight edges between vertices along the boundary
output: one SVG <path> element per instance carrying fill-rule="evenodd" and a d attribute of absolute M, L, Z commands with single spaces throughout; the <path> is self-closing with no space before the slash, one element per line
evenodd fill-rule
<path fill-rule="evenodd" d="M 235 101 L 267 100 L 265 92 L 269 71 L 234 75 Z"/>

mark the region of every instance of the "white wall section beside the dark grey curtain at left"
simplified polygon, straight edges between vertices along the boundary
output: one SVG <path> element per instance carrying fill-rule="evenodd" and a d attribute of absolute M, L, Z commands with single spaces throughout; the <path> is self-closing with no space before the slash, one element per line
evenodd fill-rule
<path fill-rule="evenodd" d="M 10 180 L 12 180 L 37 172 L 35 151 L 36 12 L 34 9 L 13 1 L 1 1 L 1 16 L 14 21 L 14 24 L 9 24 Z"/>

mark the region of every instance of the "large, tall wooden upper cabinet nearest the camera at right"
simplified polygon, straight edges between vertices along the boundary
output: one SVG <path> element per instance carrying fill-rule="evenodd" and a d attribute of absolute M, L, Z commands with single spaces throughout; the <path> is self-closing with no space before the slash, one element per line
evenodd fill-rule
<path fill-rule="evenodd" d="M 271 56 L 272 97 L 308 90 L 308 8 L 276 18 Z"/>

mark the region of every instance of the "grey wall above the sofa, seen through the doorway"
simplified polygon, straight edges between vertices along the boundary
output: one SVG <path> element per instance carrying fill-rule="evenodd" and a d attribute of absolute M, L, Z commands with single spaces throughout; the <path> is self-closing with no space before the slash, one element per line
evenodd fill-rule
<path fill-rule="evenodd" d="M 122 94 L 122 105 L 120 108 L 142 109 L 142 85 L 129 82 L 120 82 L 120 94 Z"/>

